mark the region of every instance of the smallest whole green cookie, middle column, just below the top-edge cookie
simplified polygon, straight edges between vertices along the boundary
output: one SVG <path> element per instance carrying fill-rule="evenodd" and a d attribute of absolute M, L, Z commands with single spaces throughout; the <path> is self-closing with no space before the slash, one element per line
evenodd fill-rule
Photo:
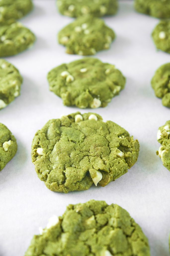
<path fill-rule="evenodd" d="M 109 49 L 114 38 L 113 30 L 102 19 L 90 15 L 77 18 L 58 33 L 58 41 L 66 46 L 66 52 L 79 55 L 95 55 Z"/>

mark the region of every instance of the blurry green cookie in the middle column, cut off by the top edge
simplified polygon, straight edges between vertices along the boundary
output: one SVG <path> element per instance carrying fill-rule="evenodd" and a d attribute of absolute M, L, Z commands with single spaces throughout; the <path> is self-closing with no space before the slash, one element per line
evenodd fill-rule
<path fill-rule="evenodd" d="M 59 12 L 70 17 L 91 14 L 96 17 L 114 15 L 118 9 L 117 0 L 57 0 Z"/>

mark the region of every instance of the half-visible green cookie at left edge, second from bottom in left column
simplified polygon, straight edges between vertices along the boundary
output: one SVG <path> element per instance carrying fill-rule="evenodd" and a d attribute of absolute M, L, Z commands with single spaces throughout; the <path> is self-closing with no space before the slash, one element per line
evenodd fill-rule
<path fill-rule="evenodd" d="M 22 77 L 11 63 L 0 59 L 0 109 L 20 95 Z"/>

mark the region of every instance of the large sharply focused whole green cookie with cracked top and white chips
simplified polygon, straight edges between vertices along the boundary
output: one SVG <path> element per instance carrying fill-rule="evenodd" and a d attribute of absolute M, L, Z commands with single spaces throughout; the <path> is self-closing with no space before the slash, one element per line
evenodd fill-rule
<path fill-rule="evenodd" d="M 49 120 L 32 142 L 38 177 L 52 191 L 104 187 L 137 161 L 139 143 L 119 125 L 98 114 L 76 112 Z"/>

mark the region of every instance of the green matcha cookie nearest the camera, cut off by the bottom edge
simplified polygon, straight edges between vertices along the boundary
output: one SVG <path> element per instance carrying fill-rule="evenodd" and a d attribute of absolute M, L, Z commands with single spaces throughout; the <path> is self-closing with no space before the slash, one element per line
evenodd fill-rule
<path fill-rule="evenodd" d="M 40 232 L 25 256 L 150 256 L 139 225 L 122 207 L 105 201 L 69 205 Z"/>

